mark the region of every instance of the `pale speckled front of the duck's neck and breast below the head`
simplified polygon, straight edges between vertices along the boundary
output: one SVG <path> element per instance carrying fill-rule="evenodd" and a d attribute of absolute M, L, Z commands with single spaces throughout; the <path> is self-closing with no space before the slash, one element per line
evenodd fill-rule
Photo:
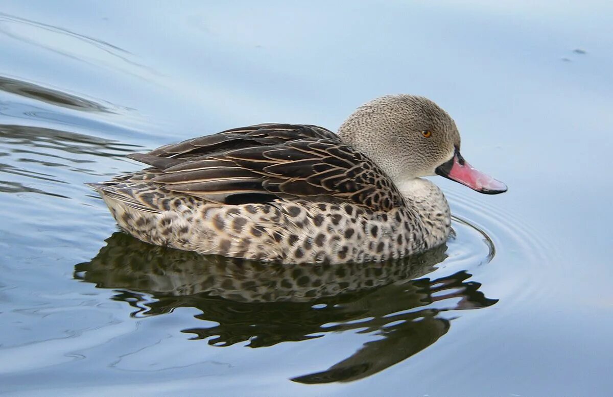
<path fill-rule="evenodd" d="M 413 178 L 398 184 L 398 190 L 424 227 L 428 246 L 446 241 L 451 232 L 451 211 L 441 189 L 428 180 Z"/>

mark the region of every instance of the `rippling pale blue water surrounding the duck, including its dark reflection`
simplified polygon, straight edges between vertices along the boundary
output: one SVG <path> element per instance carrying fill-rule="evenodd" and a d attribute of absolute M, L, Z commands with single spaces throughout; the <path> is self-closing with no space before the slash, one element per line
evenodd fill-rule
<path fill-rule="evenodd" d="M 0 393 L 613 391 L 611 2 L 21 3 L 0 8 Z M 203 259 L 117 233 L 83 185 L 399 92 L 509 186 L 435 178 L 455 237 L 410 261 Z"/>

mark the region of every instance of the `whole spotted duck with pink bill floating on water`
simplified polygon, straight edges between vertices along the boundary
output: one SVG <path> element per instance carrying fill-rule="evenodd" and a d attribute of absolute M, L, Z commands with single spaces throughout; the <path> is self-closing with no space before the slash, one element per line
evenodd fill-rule
<path fill-rule="evenodd" d="M 92 183 L 120 229 L 146 243 L 262 262 L 382 262 L 445 243 L 440 175 L 483 194 L 504 183 L 460 154 L 460 134 L 430 99 L 361 105 L 335 134 L 264 123 L 129 154 L 148 165 Z"/>

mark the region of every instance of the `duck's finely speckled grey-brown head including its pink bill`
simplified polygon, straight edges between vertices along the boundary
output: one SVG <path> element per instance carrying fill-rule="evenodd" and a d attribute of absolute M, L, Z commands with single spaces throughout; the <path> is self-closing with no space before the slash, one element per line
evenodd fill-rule
<path fill-rule="evenodd" d="M 481 193 L 506 192 L 504 183 L 464 160 L 454 120 L 427 98 L 401 94 L 371 100 L 349 116 L 338 133 L 397 185 L 438 174 Z"/>

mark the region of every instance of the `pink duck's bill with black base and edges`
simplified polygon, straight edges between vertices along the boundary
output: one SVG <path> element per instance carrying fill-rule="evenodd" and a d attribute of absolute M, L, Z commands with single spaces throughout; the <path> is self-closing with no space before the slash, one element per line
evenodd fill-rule
<path fill-rule="evenodd" d="M 499 194 L 506 192 L 506 184 L 473 168 L 457 150 L 451 160 L 437 167 L 435 171 L 438 175 L 459 182 L 479 193 Z"/>

